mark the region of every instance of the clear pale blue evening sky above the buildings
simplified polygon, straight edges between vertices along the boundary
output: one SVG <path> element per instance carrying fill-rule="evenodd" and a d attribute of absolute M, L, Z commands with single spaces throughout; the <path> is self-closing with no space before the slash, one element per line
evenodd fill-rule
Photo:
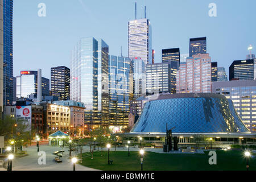
<path fill-rule="evenodd" d="M 217 17 L 208 15 L 210 1 L 196 4 L 193 1 L 162 2 L 157 4 L 154 1 L 146 3 L 137 1 L 137 19 L 143 18 L 144 5 L 146 5 L 147 18 L 152 23 L 152 49 L 155 49 L 155 63 L 160 63 L 162 49 L 180 47 L 181 54 L 188 53 L 190 38 L 206 36 L 207 52 L 210 53 L 212 61 L 218 61 L 218 66 L 228 70 L 234 60 L 245 59 L 249 54 L 247 51 L 249 44 L 256 45 L 255 35 L 250 34 L 249 28 L 248 30 L 244 28 L 249 21 L 247 17 L 255 16 L 252 9 L 255 4 L 253 1 L 249 3 L 216 1 Z M 119 55 L 121 46 L 123 55 L 128 55 L 127 25 L 129 20 L 135 19 L 135 1 L 111 1 L 111 3 L 77 1 L 72 4 L 72 9 L 69 9 L 70 2 L 44 1 L 47 8 L 46 17 L 38 16 L 39 3 L 40 1 L 14 3 L 14 76 L 19 75 L 21 70 L 26 70 L 29 65 L 30 70 L 42 68 L 42 75 L 50 78 L 51 69 L 48 66 L 69 67 L 69 52 L 82 37 L 100 37 L 109 45 L 110 55 Z M 95 6 L 96 4 L 100 6 Z M 171 5 L 171 8 L 163 5 Z M 108 11 L 105 7 L 108 7 Z M 121 10 L 118 7 L 127 7 L 127 9 Z M 165 11 L 167 7 L 170 10 Z M 238 8 L 240 14 L 236 11 Z M 183 11 L 180 12 L 181 9 Z M 97 15 L 93 13 L 96 10 Z M 187 14 L 188 10 L 195 11 L 191 17 Z M 161 13 L 155 13 L 158 11 Z M 164 21 L 172 15 L 178 18 L 172 19 L 170 24 Z M 103 18 L 99 18 L 100 16 Z M 75 17 L 80 18 L 72 21 Z M 88 19 L 83 19 L 84 17 Z M 193 25 L 191 19 L 194 18 L 204 24 Z M 24 22 L 22 19 L 27 21 Z M 85 20 L 85 23 L 81 24 L 80 20 Z M 67 22 L 68 28 L 65 27 Z M 172 23 L 176 23 L 179 28 L 171 28 Z M 194 28 L 188 28 L 191 26 Z M 253 27 L 255 24 L 251 24 L 250 29 Z M 255 53 L 255 50 L 252 53 Z"/>

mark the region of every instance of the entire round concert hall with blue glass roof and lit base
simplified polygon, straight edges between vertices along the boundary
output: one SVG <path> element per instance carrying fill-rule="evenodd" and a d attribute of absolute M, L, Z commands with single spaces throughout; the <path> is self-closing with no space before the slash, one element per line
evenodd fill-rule
<path fill-rule="evenodd" d="M 118 136 L 123 140 L 142 138 L 143 143 L 162 147 L 170 130 L 179 147 L 195 147 L 200 143 L 197 140 L 204 141 L 205 147 L 209 143 L 213 147 L 256 144 L 256 133 L 242 122 L 232 100 L 213 93 L 159 95 L 144 104 L 133 129 Z"/>

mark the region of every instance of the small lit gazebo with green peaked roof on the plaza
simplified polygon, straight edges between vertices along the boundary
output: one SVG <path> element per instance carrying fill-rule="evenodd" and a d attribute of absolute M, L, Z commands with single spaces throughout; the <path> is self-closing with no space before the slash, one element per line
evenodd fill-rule
<path fill-rule="evenodd" d="M 62 131 L 56 131 L 55 133 L 49 135 L 49 146 L 62 146 L 68 143 L 69 135 L 63 133 Z"/>

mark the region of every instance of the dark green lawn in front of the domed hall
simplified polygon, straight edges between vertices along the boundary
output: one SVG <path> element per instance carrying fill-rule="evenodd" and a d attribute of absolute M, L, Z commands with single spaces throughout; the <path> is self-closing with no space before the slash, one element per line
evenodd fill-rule
<path fill-rule="evenodd" d="M 140 156 L 138 152 L 110 151 L 110 160 L 113 164 L 108 165 L 108 152 L 97 151 L 91 159 L 90 152 L 82 154 L 82 165 L 90 168 L 106 171 L 139 171 L 141 170 Z M 210 156 L 205 154 L 158 154 L 146 152 L 144 155 L 144 171 L 226 171 L 246 170 L 246 159 L 242 151 L 217 151 L 217 165 L 208 163 Z M 250 171 L 256 171 L 256 155 L 250 158 Z"/>

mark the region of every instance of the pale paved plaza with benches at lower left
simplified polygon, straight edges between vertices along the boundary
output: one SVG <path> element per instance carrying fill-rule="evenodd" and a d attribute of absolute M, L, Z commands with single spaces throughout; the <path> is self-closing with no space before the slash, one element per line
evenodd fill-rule
<path fill-rule="evenodd" d="M 71 163 L 71 159 L 69 157 L 68 148 L 64 148 L 63 160 L 62 163 L 56 163 L 54 158 L 56 155 L 53 155 L 53 152 L 62 150 L 60 147 L 52 147 L 48 145 L 39 146 L 39 151 L 46 152 L 46 165 L 39 165 L 38 159 L 38 151 L 36 146 L 29 146 L 25 148 L 28 152 L 28 156 L 24 156 L 22 158 L 14 159 L 13 161 L 13 171 L 72 171 L 73 164 Z M 73 154 L 73 152 L 72 152 Z M 92 171 L 96 169 L 88 168 L 76 164 L 76 171 Z"/>

